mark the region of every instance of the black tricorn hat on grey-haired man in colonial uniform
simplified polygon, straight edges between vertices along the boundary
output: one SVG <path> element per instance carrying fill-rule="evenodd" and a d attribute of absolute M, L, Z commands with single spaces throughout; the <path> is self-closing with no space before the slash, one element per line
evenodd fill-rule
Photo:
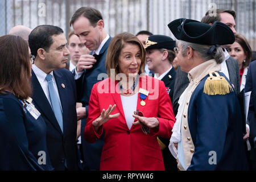
<path fill-rule="evenodd" d="M 180 18 L 168 24 L 176 39 L 185 42 L 204 45 L 233 44 L 233 31 L 221 22 L 214 22 L 212 26 L 192 19 Z"/>

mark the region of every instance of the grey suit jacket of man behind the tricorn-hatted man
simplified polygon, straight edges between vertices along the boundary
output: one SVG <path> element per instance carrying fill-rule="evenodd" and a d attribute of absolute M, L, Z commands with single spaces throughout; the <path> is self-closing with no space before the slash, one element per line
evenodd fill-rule
<path fill-rule="evenodd" d="M 228 67 L 229 80 L 234 85 L 234 90 L 236 94 L 240 93 L 240 72 L 237 60 L 229 56 L 226 60 L 226 66 Z M 180 66 L 177 69 L 177 75 L 174 85 L 174 98 L 172 101 L 172 107 L 174 108 L 174 114 L 177 114 L 177 109 L 179 107 L 178 101 L 181 94 L 187 88 L 189 84 L 188 73 L 180 70 Z"/>

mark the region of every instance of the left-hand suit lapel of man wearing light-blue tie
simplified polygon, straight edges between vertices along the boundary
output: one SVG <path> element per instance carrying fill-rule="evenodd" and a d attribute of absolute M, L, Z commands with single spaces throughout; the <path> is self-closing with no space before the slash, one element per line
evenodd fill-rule
<path fill-rule="evenodd" d="M 60 125 L 57 122 L 57 119 L 55 118 L 55 115 L 53 113 L 52 107 L 49 104 L 48 99 L 46 98 L 46 94 L 44 94 L 44 91 L 42 89 L 42 86 L 40 85 L 38 78 L 36 77 L 34 71 L 32 71 L 31 76 L 31 82 L 32 82 L 32 99 L 35 102 L 36 105 L 38 105 L 38 109 L 41 113 L 44 114 L 44 116 L 49 120 L 49 122 L 52 123 L 52 125 L 55 127 L 56 130 L 59 131 L 59 133 L 62 135 L 62 131 L 60 129 Z"/>

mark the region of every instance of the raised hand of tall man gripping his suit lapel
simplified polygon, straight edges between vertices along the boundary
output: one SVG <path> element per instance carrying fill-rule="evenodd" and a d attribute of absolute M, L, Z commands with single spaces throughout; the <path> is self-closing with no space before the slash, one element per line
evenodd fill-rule
<path fill-rule="evenodd" d="M 90 69 L 93 67 L 97 61 L 94 56 L 92 55 L 81 55 L 80 59 L 76 65 L 76 71 L 82 72 L 84 69 Z"/>

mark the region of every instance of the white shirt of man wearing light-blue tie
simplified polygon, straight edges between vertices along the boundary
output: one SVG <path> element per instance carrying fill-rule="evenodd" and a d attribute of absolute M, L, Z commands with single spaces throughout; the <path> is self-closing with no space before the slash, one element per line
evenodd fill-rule
<path fill-rule="evenodd" d="M 40 85 L 42 86 L 42 89 L 44 91 L 44 94 L 46 95 L 46 98 L 48 99 L 49 101 L 49 104 L 51 105 L 51 100 L 49 98 L 49 90 L 48 90 L 48 82 L 46 80 L 46 76 L 47 74 L 44 73 L 41 69 L 39 69 L 38 67 L 36 67 L 35 64 L 32 65 L 32 69 L 36 75 L 36 77 L 38 78 L 38 81 L 40 83 Z M 57 88 L 57 84 L 56 84 L 56 81 L 55 81 L 55 77 L 53 76 L 53 71 L 51 73 L 49 73 L 52 75 L 52 83 L 53 83 L 53 87 L 55 89 L 55 92 L 57 94 L 57 97 L 60 101 L 60 96 L 59 96 L 59 91 L 58 91 L 58 88 Z M 61 102 L 60 102 L 61 103 Z M 52 106 L 52 105 L 51 105 Z M 61 106 L 61 104 L 60 104 Z M 61 108 L 62 109 L 62 108 Z"/>

